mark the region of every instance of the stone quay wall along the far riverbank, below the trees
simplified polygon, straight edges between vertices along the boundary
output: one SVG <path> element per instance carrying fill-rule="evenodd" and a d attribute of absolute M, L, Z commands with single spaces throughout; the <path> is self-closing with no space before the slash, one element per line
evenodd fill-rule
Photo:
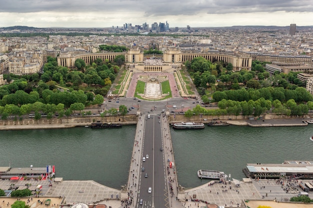
<path fill-rule="evenodd" d="M 179 116 L 179 117 L 178 117 Z M 208 123 L 210 120 L 195 120 L 187 119 L 184 115 L 175 116 L 175 121 L 171 118 L 172 115 L 167 116 L 168 123 L 179 123 L 179 122 L 190 122 L 196 121 L 201 123 Z M 178 118 L 177 118 L 178 117 Z M 63 128 L 73 128 L 73 127 L 84 127 L 90 126 L 92 122 L 100 121 L 103 123 L 113 123 L 122 125 L 135 125 L 137 124 L 137 115 L 126 115 L 124 117 L 119 116 L 92 116 L 92 117 L 80 117 L 80 118 L 69 118 L 69 119 L 25 119 L 21 121 L 0 121 L 0 130 L 26 130 L 26 129 L 63 129 Z M 221 120 L 221 119 L 220 119 Z M 223 121 L 228 122 L 231 125 L 236 126 L 250 126 L 250 127 L 283 127 L 283 126 L 308 126 L 310 124 L 304 123 L 302 118 L 267 118 L 267 119 L 224 119 Z"/>

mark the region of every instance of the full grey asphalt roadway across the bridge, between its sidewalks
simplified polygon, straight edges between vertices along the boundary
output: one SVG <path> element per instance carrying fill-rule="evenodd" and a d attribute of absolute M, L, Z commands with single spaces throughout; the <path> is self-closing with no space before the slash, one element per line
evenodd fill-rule
<path fill-rule="evenodd" d="M 160 118 L 157 115 L 151 115 L 150 119 L 145 116 L 145 131 L 142 144 L 141 155 L 141 175 L 139 180 L 138 199 L 143 200 L 143 205 L 137 203 L 136 207 L 144 208 L 165 208 L 168 205 L 167 200 L 167 184 L 165 175 L 165 164 L 163 151 L 162 131 Z M 145 162 L 142 157 L 146 157 Z M 147 178 L 145 178 L 147 174 Z M 151 193 L 148 193 L 148 188 L 151 188 Z"/>

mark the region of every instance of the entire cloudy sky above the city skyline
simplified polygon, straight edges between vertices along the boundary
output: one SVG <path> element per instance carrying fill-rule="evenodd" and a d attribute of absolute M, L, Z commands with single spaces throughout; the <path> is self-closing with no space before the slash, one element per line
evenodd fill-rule
<path fill-rule="evenodd" d="M 0 27 L 313 25 L 313 0 L 1 0 Z"/>

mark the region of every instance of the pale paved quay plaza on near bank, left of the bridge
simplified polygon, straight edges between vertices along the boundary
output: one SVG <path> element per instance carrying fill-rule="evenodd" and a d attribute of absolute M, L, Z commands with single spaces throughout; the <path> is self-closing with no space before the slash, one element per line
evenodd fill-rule
<path fill-rule="evenodd" d="M 40 185 L 41 189 L 37 197 L 31 196 L 27 198 L 18 198 L 21 201 L 26 200 L 26 205 L 31 208 L 69 208 L 77 203 L 89 204 L 104 204 L 108 206 L 113 206 L 113 208 L 120 207 L 120 191 L 112 189 L 94 181 L 63 181 L 62 178 L 55 178 L 50 182 L 48 180 L 23 180 L 23 181 L 12 181 L 12 180 L 0 180 L 0 189 L 7 190 L 5 187 L 10 187 L 14 185 L 14 188 L 18 190 L 26 189 L 26 184 L 31 184 L 32 186 Z M 0 207 L 4 208 L 12 205 L 17 198 L 12 197 L 1 197 L 2 201 L 6 202 Z M 27 199 L 29 202 L 27 204 Z M 31 200 L 32 199 L 32 200 Z M 50 205 L 44 206 L 38 204 L 40 202 L 50 199 Z"/>

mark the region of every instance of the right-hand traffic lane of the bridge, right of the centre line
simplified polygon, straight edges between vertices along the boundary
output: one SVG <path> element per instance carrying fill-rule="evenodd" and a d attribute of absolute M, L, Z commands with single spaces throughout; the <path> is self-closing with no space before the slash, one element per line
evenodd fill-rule
<path fill-rule="evenodd" d="M 168 204 L 166 201 L 167 199 L 167 189 L 166 189 L 166 177 L 165 177 L 165 170 L 164 170 L 164 152 L 160 150 L 163 147 L 162 145 L 162 128 L 163 126 L 158 123 L 160 121 L 159 118 L 155 119 L 155 127 L 154 127 L 154 207 L 163 208 L 166 207 L 165 205 Z M 166 128 L 166 127 L 165 127 Z"/>

